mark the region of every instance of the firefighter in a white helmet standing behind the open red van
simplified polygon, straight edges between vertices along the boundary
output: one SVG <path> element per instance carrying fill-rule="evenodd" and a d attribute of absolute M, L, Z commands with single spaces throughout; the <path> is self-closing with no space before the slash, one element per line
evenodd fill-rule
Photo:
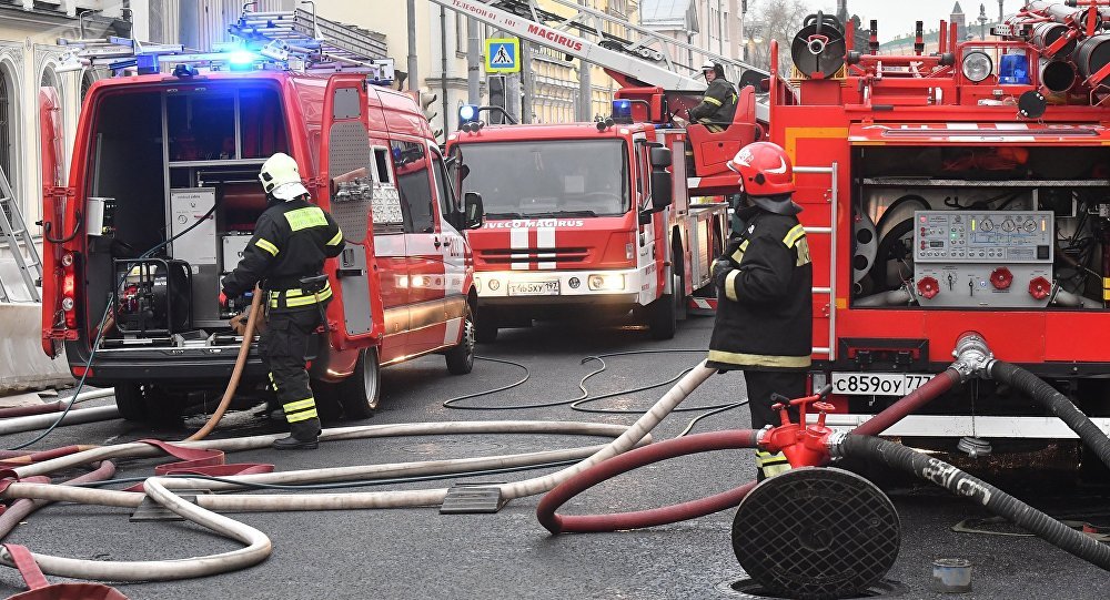
<path fill-rule="evenodd" d="M 332 297 L 322 275 L 324 260 L 343 252 L 343 232 L 332 215 L 309 203 L 309 190 L 292 156 L 274 154 L 262 165 L 259 179 L 268 207 L 243 260 L 224 277 L 220 299 L 223 304 L 262 282 L 269 321 L 259 339 L 259 354 L 290 427 L 290 436 L 273 445 L 279 450 L 312 449 L 320 418 L 304 356 Z"/>

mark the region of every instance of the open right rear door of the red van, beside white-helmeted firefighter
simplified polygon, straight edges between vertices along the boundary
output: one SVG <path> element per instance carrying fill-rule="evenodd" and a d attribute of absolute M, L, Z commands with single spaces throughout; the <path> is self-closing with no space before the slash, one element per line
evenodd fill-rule
<path fill-rule="evenodd" d="M 363 75 L 333 75 L 324 93 L 319 174 L 322 185 L 317 186 L 321 192 L 316 200 L 332 213 L 346 242 L 339 258 L 325 266 L 333 274 L 332 287 L 339 301 L 327 309 L 329 319 L 341 324 L 333 334 L 339 347 L 366 346 L 384 330 L 371 218 L 374 181 L 365 84 Z"/>

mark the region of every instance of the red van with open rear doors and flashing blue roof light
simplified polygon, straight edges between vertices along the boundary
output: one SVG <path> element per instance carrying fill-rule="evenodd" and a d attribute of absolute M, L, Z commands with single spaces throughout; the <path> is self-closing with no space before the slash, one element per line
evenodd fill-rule
<path fill-rule="evenodd" d="M 336 74 L 353 52 L 311 37 L 297 42 L 304 55 L 282 55 L 264 37 L 275 21 L 244 13 L 232 52 L 137 54 L 113 40 L 73 55 L 130 60 L 140 74 L 89 90 L 69 184 L 44 190 L 43 349 L 63 344 L 74 376 L 114 386 L 125 418 L 175 414 L 226 386 L 242 342 L 229 318 L 249 301 L 221 307 L 220 279 L 265 210 L 258 173 L 274 152 L 297 161 L 346 241 L 324 267 L 327 330 L 307 348 L 321 410 L 369 416 L 380 366 L 430 353 L 454 374 L 473 365 L 476 293 L 460 232 L 481 224 L 480 200 L 455 199 L 416 102 L 369 84 L 389 79 L 387 64 Z M 252 346 L 244 395 L 262 370 Z"/>

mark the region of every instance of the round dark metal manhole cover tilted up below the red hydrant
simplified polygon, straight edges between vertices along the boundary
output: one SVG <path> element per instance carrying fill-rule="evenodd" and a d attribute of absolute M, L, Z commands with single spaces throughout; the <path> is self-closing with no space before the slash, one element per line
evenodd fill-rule
<path fill-rule="evenodd" d="M 744 571 L 783 598 L 859 596 L 890 570 L 899 543 L 890 499 L 840 469 L 791 469 L 767 479 L 733 521 L 733 550 Z"/>

